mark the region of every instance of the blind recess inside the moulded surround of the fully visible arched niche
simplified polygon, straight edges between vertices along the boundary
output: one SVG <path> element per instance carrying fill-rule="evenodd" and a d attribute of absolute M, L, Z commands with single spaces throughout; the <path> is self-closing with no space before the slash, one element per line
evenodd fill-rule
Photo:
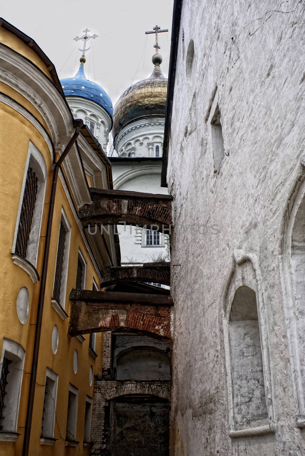
<path fill-rule="evenodd" d="M 234 424 L 268 417 L 255 291 L 240 286 L 228 322 Z"/>

